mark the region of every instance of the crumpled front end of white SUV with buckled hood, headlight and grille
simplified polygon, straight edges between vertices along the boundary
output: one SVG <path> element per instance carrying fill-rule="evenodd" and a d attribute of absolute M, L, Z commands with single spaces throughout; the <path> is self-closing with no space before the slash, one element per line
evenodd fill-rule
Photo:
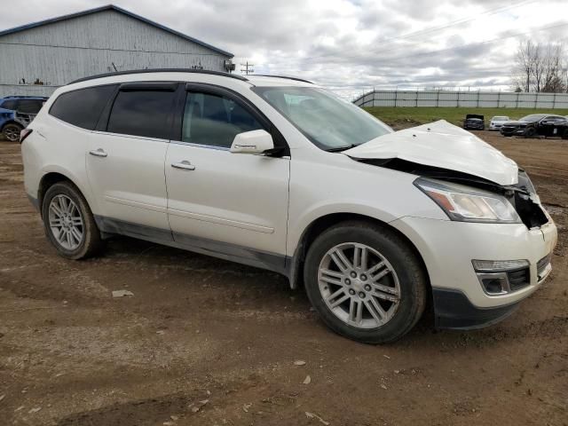
<path fill-rule="evenodd" d="M 343 154 L 357 162 L 419 176 L 414 185 L 452 220 L 522 222 L 529 229 L 549 220 L 525 170 L 482 139 L 444 120 L 380 136 Z M 476 209 L 486 215 L 476 215 Z"/>

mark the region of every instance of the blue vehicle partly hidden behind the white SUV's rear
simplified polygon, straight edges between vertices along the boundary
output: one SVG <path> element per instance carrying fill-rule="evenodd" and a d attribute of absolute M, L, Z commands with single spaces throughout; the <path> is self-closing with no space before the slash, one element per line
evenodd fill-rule
<path fill-rule="evenodd" d="M 0 132 L 15 142 L 20 131 L 36 117 L 47 98 L 39 96 L 7 96 L 0 99 Z"/>

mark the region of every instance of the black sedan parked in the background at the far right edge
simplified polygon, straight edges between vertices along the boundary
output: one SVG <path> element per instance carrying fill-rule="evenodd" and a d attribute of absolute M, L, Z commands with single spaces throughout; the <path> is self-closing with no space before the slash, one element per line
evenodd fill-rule
<path fill-rule="evenodd" d="M 554 114 L 530 114 L 501 126 L 503 136 L 535 136 L 568 138 L 568 118 Z"/>

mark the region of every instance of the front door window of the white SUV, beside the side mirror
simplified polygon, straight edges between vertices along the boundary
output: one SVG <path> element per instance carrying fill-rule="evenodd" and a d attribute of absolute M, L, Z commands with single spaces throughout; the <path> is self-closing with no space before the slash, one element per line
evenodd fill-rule
<path fill-rule="evenodd" d="M 229 148 L 239 133 L 262 128 L 255 117 L 233 99 L 209 93 L 187 93 L 184 142 Z"/>

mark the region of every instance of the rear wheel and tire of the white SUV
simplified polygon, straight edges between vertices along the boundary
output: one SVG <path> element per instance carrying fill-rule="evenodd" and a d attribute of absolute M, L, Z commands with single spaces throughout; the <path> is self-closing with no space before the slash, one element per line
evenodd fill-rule
<path fill-rule="evenodd" d="M 99 228 L 89 204 L 70 182 L 56 183 L 46 191 L 42 218 L 45 234 L 60 256 L 83 259 L 102 247 Z"/>

